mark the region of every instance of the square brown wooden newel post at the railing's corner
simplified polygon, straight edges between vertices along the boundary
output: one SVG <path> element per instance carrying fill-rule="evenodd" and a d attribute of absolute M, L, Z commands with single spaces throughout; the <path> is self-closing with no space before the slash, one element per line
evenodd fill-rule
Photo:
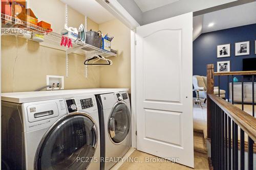
<path fill-rule="evenodd" d="M 207 138 L 211 138 L 210 134 L 210 118 L 211 118 L 211 110 L 210 110 L 210 98 L 208 94 L 214 93 L 214 64 L 207 64 Z"/>

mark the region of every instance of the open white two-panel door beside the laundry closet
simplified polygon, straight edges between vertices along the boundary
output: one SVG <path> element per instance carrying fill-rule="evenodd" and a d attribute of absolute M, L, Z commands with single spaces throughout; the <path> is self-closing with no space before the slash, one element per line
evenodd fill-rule
<path fill-rule="evenodd" d="M 137 149 L 194 167 L 193 14 L 136 29 Z"/>

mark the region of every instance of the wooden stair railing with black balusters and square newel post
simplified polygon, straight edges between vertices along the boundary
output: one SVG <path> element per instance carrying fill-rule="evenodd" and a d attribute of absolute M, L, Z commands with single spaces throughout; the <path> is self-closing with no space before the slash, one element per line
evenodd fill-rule
<path fill-rule="evenodd" d="M 233 98 L 233 75 L 252 76 L 252 115 L 220 98 L 220 76 L 231 76 Z M 210 141 L 211 161 L 214 169 L 253 169 L 253 144 L 256 141 L 256 118 L 254 117 L 254 75 L 256 71 L 214 72 L 214 65 L 207 65 L 207 138 Z M 219 93 L 214 94 L 214 77 L 218 76 Z M 243 92 L 242 77 L 242 92 Z M 228 86 L 229 87 L 229 86 Z M 242 93 L 243 98 L 243 93 Z M 240 139 L 238 130 L 240 129 Z M 248 142 L 245 141 L 248 135 Z M 245 144 L 246 147 L 245 147 Z M 247 150 L 245 150 L 245 148 Z M 239 152 L 240 150 L 240 152 Z M 247 152 L 247 162 L 245 153 Z M 240 155 L 240 157 L 239 157 Z M 240 167 L 239 167 L 240 162 Z M 255 168 L 255 167 L 254 167 Z"/>

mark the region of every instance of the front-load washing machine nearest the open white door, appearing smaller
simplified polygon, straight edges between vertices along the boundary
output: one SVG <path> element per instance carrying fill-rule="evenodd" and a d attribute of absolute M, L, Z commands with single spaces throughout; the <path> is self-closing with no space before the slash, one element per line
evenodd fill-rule
<path fill-rule="evenodd" d="M 101 133 L 101 169 L 108 170 L 130 149 L 131 105 L 127 91 L 96 95 Z"/>

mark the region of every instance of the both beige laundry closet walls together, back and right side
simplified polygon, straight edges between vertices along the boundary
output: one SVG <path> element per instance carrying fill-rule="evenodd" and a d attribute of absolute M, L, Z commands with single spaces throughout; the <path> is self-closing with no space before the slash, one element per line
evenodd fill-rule
<path fill-rule="evenodd" d="M 39 21 L 51 23 L 60 32 L 65 23 L 65 4 L 58 0 L 27 0 Z M 41 3 L 44 2 L 44 3 Z M 51 4 L 51 5 L 49 5 Z M 38 8 L 40 6 L 40 8 Z M 51 16 L 51 17 L 49 17 Z M 69 27 L 78 28 L 85 17 L 69 8 Z M 111 57 L 112 66 L 88 66 L 85 77 L 85 56 L 69 55 L 69 77 L 65 89 L 96 87 L 131 87 L 130 29 L 118 20 L 98 25 L 88 18 L 88 30 L 101 30 L 115 38 L 112 47 L 118 57 Z M 65 52 L 39 45 L 38 42 L 15 36 L 2 36 L 2 92 L 33 91 L 46 85 L 46 75 L 66 75 Z"/>

